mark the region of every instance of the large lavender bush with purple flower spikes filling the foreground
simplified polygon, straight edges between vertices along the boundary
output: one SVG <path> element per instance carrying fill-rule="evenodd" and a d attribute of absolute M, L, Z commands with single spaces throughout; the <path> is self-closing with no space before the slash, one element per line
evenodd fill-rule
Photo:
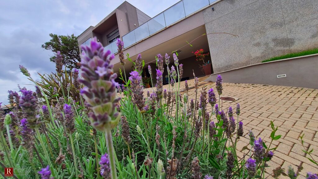
<path fill-rule="evenodd" d="M 123 53 L 121 41 L 117 44 Z M 85 87 L 79 102 L 64 94 L 50 105 L 51 97 L 40 86 L 36 93 L 22 88 L 21 96 L 9 91 L 9 101 L 15 105 L 6 116 L 0 111 L 1 172 L 13 167 L 15 178 L 42 179 L 266 178 L 268 161 L 275 157 L 276 147 L 271 145 L 281 136 L 271 122 L 271 141 L 265 143 L 252 131 L 244 131 L 239 104 L 222 110 L 222 76 L 217 77 L 216 89 L 200 86 L 195 77 L 194 92 L 200 97 L 189 99 L 187 81 L 183 94 L 176 82 L 181 78 L 176 55 L 176 67 L 169 71 L 171 90 L 163 89 L 163 56 L 158 54 L 156 90 L 145 98 L 143 64 L 137 64 L 120 87 L 114 82 L 114 55 L 96 39 L 82 49 L 78 82 Z M 125 64 L 124 55 L 120 57 Z M 26 68 L 20 69 L 33 81 Z M 60 65 L 57 71 L 61 72 Z M 243 136 L 250 146 L 239 157 L 236 146 Z M 291 167 L 287 175 L 297 177 Z M 317 175 L 308 173 L 307 178 Z"/>

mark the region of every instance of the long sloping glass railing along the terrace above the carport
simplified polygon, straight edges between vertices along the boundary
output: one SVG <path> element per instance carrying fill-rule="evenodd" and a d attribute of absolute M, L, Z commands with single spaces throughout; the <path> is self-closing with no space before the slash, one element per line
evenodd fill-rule
<path fill-rule="evenodd" d="M 124 35 L 122 37 L 124 46 L 129 47 L 216 1 L 217 0 L 181 0 L 154 18 L 151 18 L 149 21 L 135 28 L 133 31 Z"/>

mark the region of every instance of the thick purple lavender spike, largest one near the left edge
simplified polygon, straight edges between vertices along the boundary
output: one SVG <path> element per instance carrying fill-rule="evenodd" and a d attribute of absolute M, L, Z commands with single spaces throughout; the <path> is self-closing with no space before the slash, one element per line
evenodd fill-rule
<path fill-rule="evenodd" d="M 38 103 L 37 98 L 33 95 L 31 90 L 21 89 L 22 93 L 20 107 L 22 109 L 22 115 L 27 118 L 31 128 L 35 128 L 39 125 L 37 121 Z"/>

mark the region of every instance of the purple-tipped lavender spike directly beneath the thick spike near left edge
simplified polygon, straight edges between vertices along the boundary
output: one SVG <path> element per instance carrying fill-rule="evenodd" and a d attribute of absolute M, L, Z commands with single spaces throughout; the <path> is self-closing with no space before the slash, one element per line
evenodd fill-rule
<path fill-rule="evenodd" d="M 30 125 L 28 123 L 28 120 L 26 118 L 21 119 L 20 121 L 21 125 L 21 137 L 22 137 L 22 146 L 26 150 L 28 150 L 30 158 L 32 158 L 33 154 L 33 129 L 30 128 Z"/>

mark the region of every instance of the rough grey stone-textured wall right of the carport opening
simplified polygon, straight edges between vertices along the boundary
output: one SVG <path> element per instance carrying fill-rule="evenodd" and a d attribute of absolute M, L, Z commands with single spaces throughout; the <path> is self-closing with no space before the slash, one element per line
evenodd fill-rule
<path fill-rule="evenodd" d="M 318 47 L 317 12 L 317 0 L 221 0 L 213 4 L 203 15 L 214 73 Z"/>

